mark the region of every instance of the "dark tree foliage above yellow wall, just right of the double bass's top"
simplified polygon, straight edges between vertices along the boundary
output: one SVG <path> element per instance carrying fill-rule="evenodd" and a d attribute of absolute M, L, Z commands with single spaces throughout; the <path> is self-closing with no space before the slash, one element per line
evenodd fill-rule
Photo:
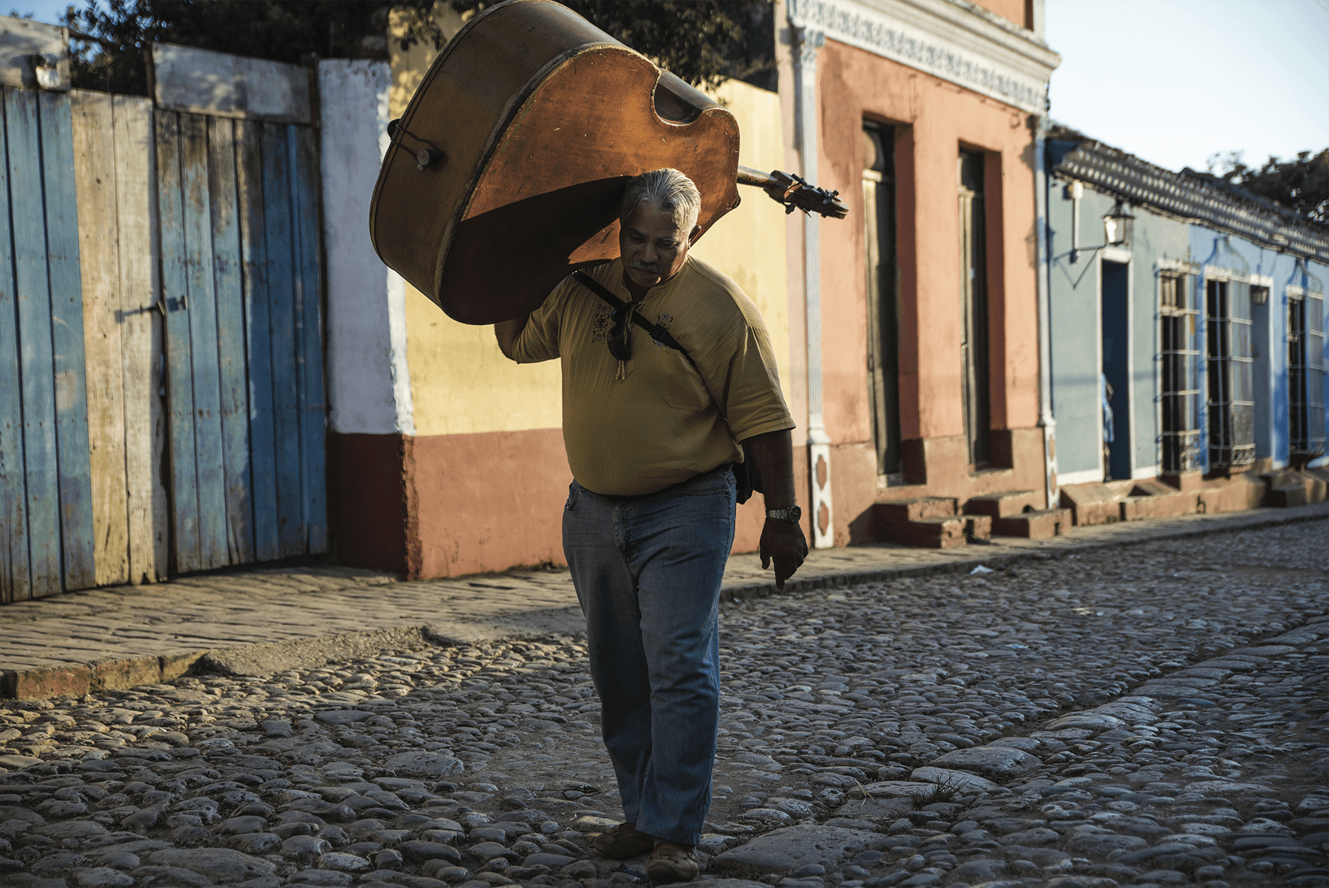
<path fill-rule="evenodd" d="M 771 0 L 560 0 L 593 25 L 694 86 L 730 77 L 773 89 Z M 462 15 L 492 0 L 452 0 Z"/>

